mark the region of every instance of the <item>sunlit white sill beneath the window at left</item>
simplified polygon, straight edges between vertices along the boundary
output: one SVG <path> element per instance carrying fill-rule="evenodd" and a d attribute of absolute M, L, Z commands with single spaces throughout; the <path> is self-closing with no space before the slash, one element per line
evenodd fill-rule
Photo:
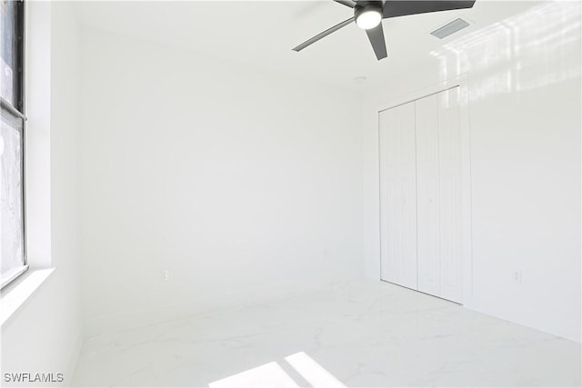
<path fill-rule="evenodd" d="M 2 290 L 0 297 L 0 325 L 10 319 L 16 311 L 38 290 L 41 284 L 55 272 L 55 268 L 29 269 L 22 279 L 10 284 Z"/>

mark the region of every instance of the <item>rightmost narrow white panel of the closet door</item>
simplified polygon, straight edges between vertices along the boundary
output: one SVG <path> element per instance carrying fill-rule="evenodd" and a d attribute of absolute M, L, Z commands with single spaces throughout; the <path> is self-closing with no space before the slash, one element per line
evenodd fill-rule
<path fill-rule="evenodd" d="M 462 301 L 462 153 L 459 88 L 437 95 L 440 175 L 440 294 Z"/>

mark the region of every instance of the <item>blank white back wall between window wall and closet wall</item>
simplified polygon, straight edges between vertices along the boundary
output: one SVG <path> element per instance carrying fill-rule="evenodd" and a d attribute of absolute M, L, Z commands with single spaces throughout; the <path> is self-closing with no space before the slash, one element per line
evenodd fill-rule
<path fill-rule="evenodd" d="M 356 95 L 94 29 L 82 57 L 87 333 L 361 275 Z"/>

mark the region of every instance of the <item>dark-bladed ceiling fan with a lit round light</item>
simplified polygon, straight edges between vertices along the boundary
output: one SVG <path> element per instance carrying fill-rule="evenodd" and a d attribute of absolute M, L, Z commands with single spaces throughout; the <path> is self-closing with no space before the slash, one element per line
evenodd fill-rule
<path fill-rule="evenodd" d="M 356 25 L 366 30 L 366 35 L 374 48 L 374 53 L 378 61 L 386 58 L 386 42 L 384 40 L 384 30 L 382 30 L 382 19 L 390 17 L 426 14 L 430 12 L 449 11 L 453 9 L 471 8 L 475 0 L 386 0 L 386 1 L 366 1 L 366 0 L 334 0 L 341 5 L 354 9 L 354 16 L 326 29 L 301 45 L 297 45 L 293 50 L 301 51 L 308 45 L 313 45 L 318 40 L 335 33 L 342 27 L 356 22 Z"/>

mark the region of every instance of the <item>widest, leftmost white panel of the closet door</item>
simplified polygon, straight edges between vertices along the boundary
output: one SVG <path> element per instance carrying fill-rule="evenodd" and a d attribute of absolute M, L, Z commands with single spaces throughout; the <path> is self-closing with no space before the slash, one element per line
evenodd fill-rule
<path fill-rule="evenodd" d="M 416 289 L 415 104 L 379 114 L 383 280 Z"/>

